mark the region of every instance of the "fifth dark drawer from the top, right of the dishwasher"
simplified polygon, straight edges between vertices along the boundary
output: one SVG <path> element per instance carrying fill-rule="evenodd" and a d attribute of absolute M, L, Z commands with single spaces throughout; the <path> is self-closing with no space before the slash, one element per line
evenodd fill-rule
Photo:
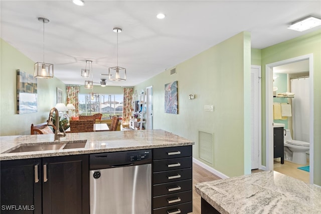
<path fill-rule="evenodd" d="M 185 203 L 190 201 L 192 201 L 192 190 L 153 197 L 152 206 L 153 208 L 159 208 L 163 206 L 170 206 L 170 205 L 175 205 L 178 203 Z"/>

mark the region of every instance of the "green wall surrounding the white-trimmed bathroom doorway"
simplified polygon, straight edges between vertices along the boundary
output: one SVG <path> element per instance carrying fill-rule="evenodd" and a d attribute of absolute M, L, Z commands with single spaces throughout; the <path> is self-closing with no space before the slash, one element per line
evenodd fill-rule
<path fill-rule="evenodd" d="M 313 54 L 313 180 L 321 185 L 321 30 L 262 49 L 262 154 L 265 154 L 265 65 L 307 54 Z M 265 165 L 265 159 L 262 164 Z"/>

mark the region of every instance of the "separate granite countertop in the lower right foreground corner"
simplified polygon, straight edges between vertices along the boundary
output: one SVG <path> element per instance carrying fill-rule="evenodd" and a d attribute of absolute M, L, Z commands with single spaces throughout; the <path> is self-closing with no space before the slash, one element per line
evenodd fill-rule
<path fill-rule="evenodd" d="M 275 171 L 195 184 L 221 213 L 321 213 L 321 188 Z"/>

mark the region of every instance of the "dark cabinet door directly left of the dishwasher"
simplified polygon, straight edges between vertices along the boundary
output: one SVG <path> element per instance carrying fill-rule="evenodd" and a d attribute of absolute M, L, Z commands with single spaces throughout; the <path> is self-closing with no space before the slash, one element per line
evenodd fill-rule
<path fill-rule="evenodd" d="M 43 213 L 89 213 L 88 155 L 43 158 Z"/>

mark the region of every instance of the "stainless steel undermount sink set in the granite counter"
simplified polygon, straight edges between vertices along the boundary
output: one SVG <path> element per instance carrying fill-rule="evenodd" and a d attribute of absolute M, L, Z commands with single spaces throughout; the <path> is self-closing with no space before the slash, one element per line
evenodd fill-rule
<path fill-rule="evenodd" d="M 87 140 L 72 141 L 70 143 L 60 144 L 42 144 L 42 145 L 22 145 L 17 149 L 5 153 L 16 152 L 36 152 L 36 151 L 48 151 L 48 150 L 60 150 L 60 149 L 78 149 L 86 146 Z"/>

